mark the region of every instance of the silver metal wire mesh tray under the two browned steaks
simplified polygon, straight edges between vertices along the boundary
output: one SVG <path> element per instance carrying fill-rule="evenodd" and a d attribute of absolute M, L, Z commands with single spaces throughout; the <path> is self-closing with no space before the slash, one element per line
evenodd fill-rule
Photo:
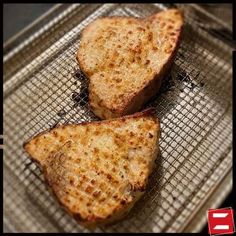
<path fill-rule="evenodd" d="M 74 28 L 64 24 L 62 38 L 49 37 L 53 43 L 47 50 L 36 44 L 41 54 L 31 67 L 4 84 L 8 92 L 4 100 L 4 214 L 14 230 L 88 232 L 51 197 L 39 169 L 24 154 L 22 142 L 58 122 L 96 119 L 86 101 L 80 105 L 71 100 L 75 91 L 84 99 L 81 90 L 86 78 L 79 72 L 76 78 L 74 72 L 79 69 L 75 53 L 85 25 L 98 16 L 145 16 L 159 8 L 104 5 L 82 23 L 77 20 L 77 25 L 74 17 L 70 20 Z M 78 14 L 76 6 L 73 11 Z M 191 12 L 185 12 L 185 18 L 171 77 L 148 104 L 157 108 L 162 127 L 161 156 L 148 191 L 125 221 L 96 232 L 176 232 L 232 165 L 231 49 L 199 29 Z M 167 90 L 170 81 L 174 85 Z M 61 111 L 65 115 L 60 117 Z"/>

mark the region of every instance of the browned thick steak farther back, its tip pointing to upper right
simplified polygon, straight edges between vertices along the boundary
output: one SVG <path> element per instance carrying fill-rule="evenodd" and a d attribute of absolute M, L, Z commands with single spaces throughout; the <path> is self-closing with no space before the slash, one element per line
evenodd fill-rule
<path fill-rule="evenodd" d="M 102 119 L 138 111 L 159 90 L 176 54 L 179 10 L 148 18 L 105 17 L 83 31 L 77 60 L 89 78 L 89 103 Z"/>

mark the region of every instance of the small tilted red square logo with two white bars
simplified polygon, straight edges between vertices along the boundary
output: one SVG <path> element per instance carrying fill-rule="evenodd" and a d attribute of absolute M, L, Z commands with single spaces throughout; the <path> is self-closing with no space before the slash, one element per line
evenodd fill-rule
<path fill-rule="evenodd" d="M 231 207 L 209 209 L 207 216 L 210 235 L 233 234 L 235 232 L 233 209 Z"/>

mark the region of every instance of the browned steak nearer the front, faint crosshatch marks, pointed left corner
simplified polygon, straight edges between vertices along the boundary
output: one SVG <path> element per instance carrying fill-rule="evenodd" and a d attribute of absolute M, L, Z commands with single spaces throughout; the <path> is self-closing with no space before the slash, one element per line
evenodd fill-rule
<path fill-rule="evenodd" d="M 62 125 L 24 148 L 61 205 L 86 226 L 124 216 L 145 190 L 160 136 L 152 109 L 113 120 Z"/>

